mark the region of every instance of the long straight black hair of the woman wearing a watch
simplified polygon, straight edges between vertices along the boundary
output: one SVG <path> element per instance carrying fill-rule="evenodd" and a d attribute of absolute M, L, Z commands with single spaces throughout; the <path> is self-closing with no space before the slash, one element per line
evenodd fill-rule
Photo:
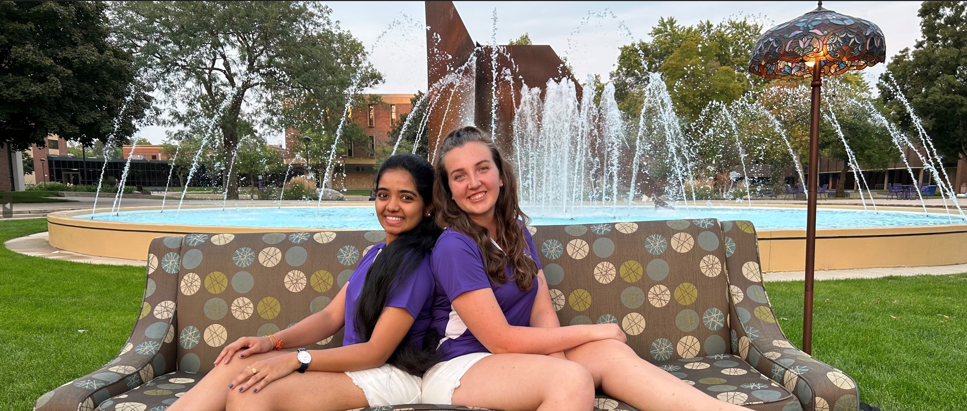
<path fill-rule="evenodd" d="M 373 181 L 376 188 L 379 187 L 380 177 L 389 170 L 409 173 L 424 204 L 429 205 L 433 201 L 433 167 L 429 162 L 413 154 L 392 156 L 379 166 Z M 376 256 L 366 273 L 360 299 L 356 302 L 356 333 L 363 340 L 372 337 L 372 330 L 386 307 L 390 292 L 410 279 L 433 250 L 442 232 L 432 217 L 425 217 L 412 230 L 396 237 Z M 423 343 L 403 338 L 387 363 L 414 375 L 423 374 L 437 363 L 435 342 L 439 338 L 431 334 L 435 333 L 426 333 Z"/>

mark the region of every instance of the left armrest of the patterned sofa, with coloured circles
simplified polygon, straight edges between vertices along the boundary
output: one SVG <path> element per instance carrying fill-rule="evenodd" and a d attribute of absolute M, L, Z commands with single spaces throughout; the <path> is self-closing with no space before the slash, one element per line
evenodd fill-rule
<path fill-rule="evenodd" d="M 175 370 L 181 241 L 181 237 L 160 237 L 151 242 L 141 309 L 131 337 L 118 355 L 103 367 L 44 394 L 35 409 L 93 410 L 111 396 Z"/>

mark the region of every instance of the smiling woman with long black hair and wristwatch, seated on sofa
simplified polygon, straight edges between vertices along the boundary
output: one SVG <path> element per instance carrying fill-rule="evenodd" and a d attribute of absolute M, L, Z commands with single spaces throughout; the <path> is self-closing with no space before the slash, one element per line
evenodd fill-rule
<path fill-rule="evenodd" d="M 329 306 L 273 336 L 227 345 L 217 367 L 168 409 L 345 410 L 419 402 L 418 375 L 436 357 L 424 339 L 434 286 L 428 255 L 441 232 L 431 218 L 432 184 L 432 167 L 418 156 L 383 161 L 375 208 L 386 243 L 366 253 Z M 332 337 L 343 326 L 341 347 L 278 351 Z"/>

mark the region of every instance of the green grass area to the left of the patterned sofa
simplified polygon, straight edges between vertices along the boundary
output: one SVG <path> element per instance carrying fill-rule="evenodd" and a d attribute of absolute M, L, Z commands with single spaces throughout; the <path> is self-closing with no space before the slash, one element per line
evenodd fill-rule
<path fill-rule="evenodd" d="M 0 221 L 0 243 L 46 229 L 44 219 Z M 114 358 L 131 334 L 144 281 L 140 267 L 0 248 L 0 410 L 33 409 L 37 397 Z"/>

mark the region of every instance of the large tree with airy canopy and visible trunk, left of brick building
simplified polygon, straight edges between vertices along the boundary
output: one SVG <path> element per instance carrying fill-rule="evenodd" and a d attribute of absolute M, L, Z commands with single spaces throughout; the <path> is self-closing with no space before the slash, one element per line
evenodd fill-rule
<path fill-rule="evenodd" d="M 164 96 L 165 122 L 217 130 L 223 149 L 236 147 L 243 120 L 335 136 L 347 103 L 382 80 L 320 3 L 126 2 L 114 11 L 119 35 Z"/>

